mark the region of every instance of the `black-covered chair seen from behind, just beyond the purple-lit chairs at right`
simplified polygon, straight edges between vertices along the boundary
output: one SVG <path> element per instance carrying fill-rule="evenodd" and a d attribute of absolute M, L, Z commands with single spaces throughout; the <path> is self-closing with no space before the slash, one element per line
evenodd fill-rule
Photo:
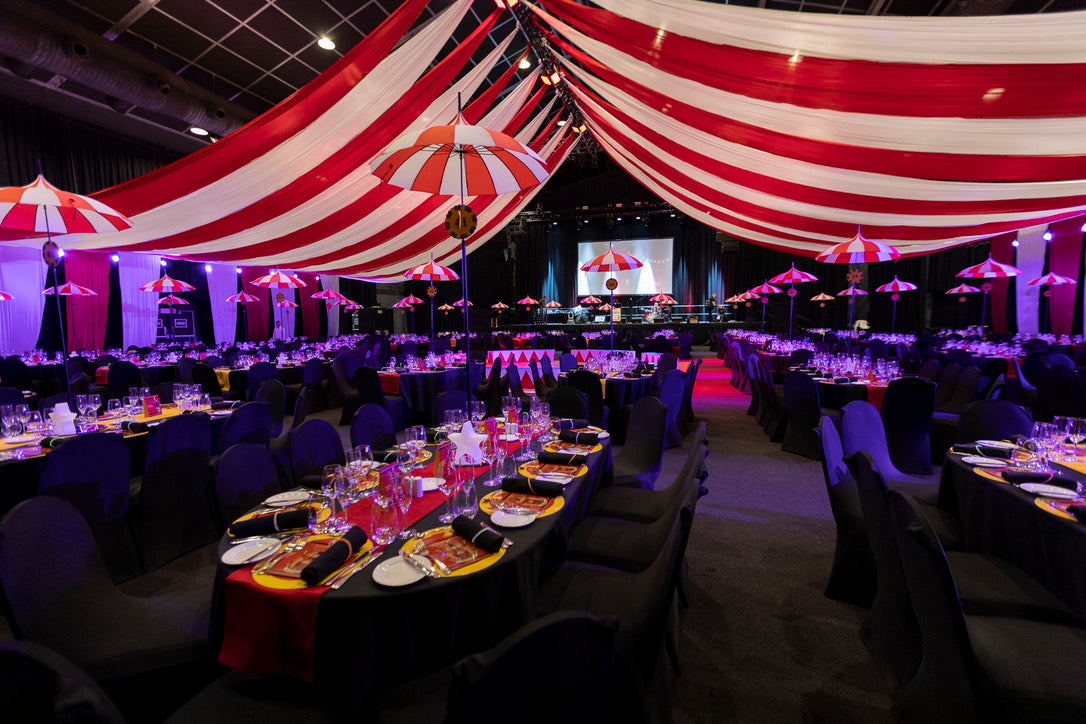
<path fill-rule="evenodd" d="M 919 377 L 902 377 L 886 385 L 880 416 L 889 459 L 898 470 L 931 474 L 934 404 L 935 385 Z"/>

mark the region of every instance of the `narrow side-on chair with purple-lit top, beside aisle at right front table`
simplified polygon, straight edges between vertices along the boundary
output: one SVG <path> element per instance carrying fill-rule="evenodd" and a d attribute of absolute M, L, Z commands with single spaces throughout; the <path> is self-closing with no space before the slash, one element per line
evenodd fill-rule
<path fill-rule="evenodd" d="M 822 418 L 819 433 L 822 437 L 822 475 L 836 526 L 833 564 L 822 595 L 870 608 L 875 595 L 875 562 L 871 557 L 856 481 L 845 465 L 841 433 L 831 418 Z"/>

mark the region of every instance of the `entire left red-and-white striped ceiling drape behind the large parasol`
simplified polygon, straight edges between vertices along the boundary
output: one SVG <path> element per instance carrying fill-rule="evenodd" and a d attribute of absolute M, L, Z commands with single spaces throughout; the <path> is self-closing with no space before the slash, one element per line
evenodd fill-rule
<path fill-rule="evenodd" d="M 516 34 L 469 71 L 501 11 L 479 24 L 444 58 L 438 53 L 471 0 L 457 0 L 396 47 L 426 0 L 407 0 L 336 65 L 235 134 L 157 172 L 94 196 L 126 214 L 132 228 L 71 234 L 72 249 L 155 252 L 201 262 L 277 266 L 375 281 L 401 279 L 430 258 L 449 263 L 459 241 L 444 230 L 449 196 L 404 191 L 369 172 L 369 161 L 402 134 L 452 123 L 457 96 L 478 98 L 467 118 L 531 143 L 556 168 L 576 137 L 540 128 L 554 102 L 534 113 L 538 72 L 496 105 L 516 63 L 493 87 L 480 88 Z M 435 62 L 437 61 L 437 62 Z M 427 69 L 429 68 L 429 69 Z M 553 131 L 553 132 L 551 132 Z M 478 247 L 539 191 L 469 199 Z"/>

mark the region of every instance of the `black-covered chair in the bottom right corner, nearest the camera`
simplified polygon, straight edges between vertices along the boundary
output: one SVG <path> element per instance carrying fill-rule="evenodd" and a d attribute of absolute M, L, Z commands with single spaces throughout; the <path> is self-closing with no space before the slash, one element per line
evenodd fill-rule
<path fill-rule="evenodd" d="M 970 614 L 924 510 L 892 494 L 909 600 L 919 626 L 915 675 L 895 698 L 906 722 L 1086 721 L 1086 628 Z"/>

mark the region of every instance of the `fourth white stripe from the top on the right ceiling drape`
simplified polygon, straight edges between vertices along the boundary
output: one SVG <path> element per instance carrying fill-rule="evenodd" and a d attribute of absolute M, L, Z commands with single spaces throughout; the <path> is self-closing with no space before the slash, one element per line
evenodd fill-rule
<path fill-rule="evenodd" d="M 582 102 L 589 107 L 594 109 L 599 115 L 605 117 L 610 123 L 615 124 L 617 127 L 623 128 L 626 135 L 630 139 L 630 142 L 634 143 L 640 149 L 646 150 L 654 157 L 659 158 L 660 164 L 658 168 L 673 169 L 675 173 L 682 174 L 691 179 L 700 181 L 714 188 L 715 190 L 735 196 L 741 201 L 746 201 L 748 203 L 753 203 L 765 208 L 771 208 L 776 212 L 797 214 L 799 216 L 808 216 L 810 218 L 820 218 L 832 221 L 847 221 L 849 224 L 901 226 L 901 227 L 951 227 L 951 226 L 987 224 L 995 221 L 1028 223 L 1037 218 L 1037 216 L 1041 215 L 1040 213 L 1034 213 L 1034 212 L 1028 212 L 1028 213 L 1020 212 L 1014 214 L 924 214 L 924 215 L 885 214 L 885 213 L 875 213 L 867 211 L 851 211 L 847 208 L 836 208 L 833 206 L 821 206 L 806 202 L 794 201 L 785 196 L 766 193 L 763 191 L 749 189 L 745 186 L 740 186 L 731 181 L 725 181 L 724 179 L 714 176 L 712 174 L 704 172 L 698 166 L 691 165 L 685 161 L 682 161 L 681 158 L 678 158 L 667 153 L 662 149 L 649 143 L 647 140 L 639 136 L 633 130 L 624 128 L 621 123 L 619 123 L 616 118 L 614 118 L 614 116 L 607 114 L 603 109 L 592 103 L 582 93 L 580 93 L 576 89 L 573 89 L 573 92 L 577 96 L 579 102 Z M 593 128 L 593 132 L 597 135 L 605 134 L 605 131 L 599 128 Z M 613 144 L 618 143 L 617 139 L 614 138 L 610 138 L 610 141 Z M 698 148 L 698 147 L 692 147 L 692 148 Z M 1086 183 L 1086 181 L 1084 181 L 1084 183 Z M 988 186 L 996 186 L 996 185 L 988 185 Z M 887 198 L 900 196 L 900 193 L 889 194 L 887 192 L 884 195 Z M 1086 208 L 1086 204 L 1072 207 L 1057 207 L 1048 213 L 1060 214 L 1065 212 L 1069 216 L 1072 216 L 1082 208 Z"/>

